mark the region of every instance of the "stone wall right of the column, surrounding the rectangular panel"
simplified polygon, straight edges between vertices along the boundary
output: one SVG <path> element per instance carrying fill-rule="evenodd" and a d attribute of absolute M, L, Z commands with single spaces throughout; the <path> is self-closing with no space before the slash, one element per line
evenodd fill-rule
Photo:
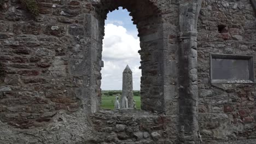
<path fill-rule="evenodd" d="M 219 31 L 221 25 L 226 27 Z M 210 53 L 256 55 L 251 2 L 203 1 L 197 30 L 199 124 L 203 140 L 255 138 L 255 85 L 210 81 Z"/>

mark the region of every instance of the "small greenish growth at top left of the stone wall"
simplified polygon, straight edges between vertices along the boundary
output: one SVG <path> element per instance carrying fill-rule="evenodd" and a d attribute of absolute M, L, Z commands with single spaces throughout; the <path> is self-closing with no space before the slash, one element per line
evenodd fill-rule
<path fill-rule="evenodd" d="M 2 1 L 2 0 L 0 0 L 0 1 Z M 23 5 L 25 5 L 27 10 L 30 11 L 30 13 L 33 16 L 38 16 L 39 15 L 39 7 L 38 7 L 38 3 L 37 3 L 36 0 L 21 0 L 21 3 Z"/>

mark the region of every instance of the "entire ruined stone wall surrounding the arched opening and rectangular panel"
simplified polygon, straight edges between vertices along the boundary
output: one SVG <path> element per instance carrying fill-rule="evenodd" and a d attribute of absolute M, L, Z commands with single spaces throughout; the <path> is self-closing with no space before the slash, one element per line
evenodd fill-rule
<path fill-rule="evenodd" d="M 0 143 L 256 143 L 254 82 L 212 83 L 210 63 L 255 61 L 255 0 L 36 1 L 38 16 L 0 0 Z M 119 7 L 139 33 L 141 111 L 100 110 L 104 20 Z"/>

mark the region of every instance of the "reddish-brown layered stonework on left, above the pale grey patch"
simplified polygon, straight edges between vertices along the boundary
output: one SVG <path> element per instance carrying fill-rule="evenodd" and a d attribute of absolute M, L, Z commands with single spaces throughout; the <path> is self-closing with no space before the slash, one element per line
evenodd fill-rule
<path fill-rule="evenodd" d="M 19 1 L 6 1 L 1 9 L 0 119 L 16 128 L 40 127 L 56 111 L 73 112 L 81 105 L 73 89 L 82 85 L 82 77 L 68 69 L 79 49 L 68 33 L 67 23 L 74 21 L 57 19 L 57 8 L 43 8 L 36 19 Z"/>

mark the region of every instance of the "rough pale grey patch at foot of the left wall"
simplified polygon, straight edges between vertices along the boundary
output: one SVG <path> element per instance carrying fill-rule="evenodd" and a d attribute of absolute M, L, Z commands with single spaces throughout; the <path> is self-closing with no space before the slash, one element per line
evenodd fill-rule
<path fill-rule="evenodd" d="M 86 143 L 93 137 L 93 129 L 83 111 L 67 114 L 59 111 L 50 124 L 33 129 L 15 129 L 0 122 L 0 141 L 18 143 Z"/>

